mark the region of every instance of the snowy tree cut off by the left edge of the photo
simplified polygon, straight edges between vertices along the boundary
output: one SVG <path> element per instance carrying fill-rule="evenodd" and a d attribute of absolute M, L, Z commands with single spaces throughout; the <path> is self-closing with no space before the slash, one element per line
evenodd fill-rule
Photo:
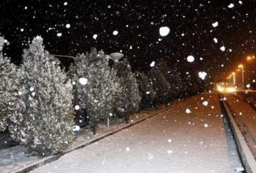
<path fill-rule="evenodd" d="M 0 132 L 6 130 L 15 103 L 17 102 L 19 81 L 16 75 L 16 66 L 10 59 L 3 57 L 4 39 L 0 37 Z"/>

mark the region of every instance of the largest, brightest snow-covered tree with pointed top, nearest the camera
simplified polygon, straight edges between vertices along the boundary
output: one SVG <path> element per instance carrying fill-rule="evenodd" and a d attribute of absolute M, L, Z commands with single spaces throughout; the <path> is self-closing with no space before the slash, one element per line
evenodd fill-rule
<path fill-rule="evenodd" d="M 23 92 L 21 113 L 11 117 L 10 132 L 36 154 L 63 151 L 73 140 L 72 84 L 59 61 L 44 50 L 43 39 L 34 38 L 24 50 L 18 70 Z"/>

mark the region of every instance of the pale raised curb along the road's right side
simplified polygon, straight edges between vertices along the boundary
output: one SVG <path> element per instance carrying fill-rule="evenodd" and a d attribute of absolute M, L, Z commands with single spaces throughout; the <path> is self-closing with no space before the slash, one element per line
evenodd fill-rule
<path fill-rule="evenodd" d="M 251 153 L 251 150 L 249 149 L 248 145 L 246 144 L 246 141 L 243 138 L 242 133 L 241 133 L 240 129 L 238 128 L 238 125 L 232 116 L 232 113 L 230 112 L 228 104 L 226 102 L 223 102 L 223 105 L 226 110 L 228 121 L 229 121 L 230 127 L 232 129 L 232 132 L 234 134 L 238 152 L 242 158 L 242 163 L 243 163 L 243 166 L 245 167 L 245 171 L 247 173 L 256 173 L 256 161 L 253 157 L 253 154 Z"/>

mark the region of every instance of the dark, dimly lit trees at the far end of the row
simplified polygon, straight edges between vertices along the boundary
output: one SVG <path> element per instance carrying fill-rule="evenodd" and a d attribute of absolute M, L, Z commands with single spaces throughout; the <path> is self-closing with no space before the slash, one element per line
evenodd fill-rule
<path fill-rule="evenodd" d="M 144 109 L 195 95 L 200 92 L 201 81 L 189 74 L 181 74 L 177 64 L 167 65 L 160 60 L 146 73 L 137 71 L 137 82 L 142 97 L 140 108 Z"/>

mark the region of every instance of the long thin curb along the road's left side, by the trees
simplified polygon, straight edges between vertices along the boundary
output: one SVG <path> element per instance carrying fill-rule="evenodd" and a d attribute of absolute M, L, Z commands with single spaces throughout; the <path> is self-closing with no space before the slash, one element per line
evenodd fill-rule
<path fill-rule="evenodd" d="M 138 124 L 138 123 L 141 123 L 142 121 L 144 120 L 147 120 L 155 115 L 157 115 L 158 113 L 162 113 L 162 112 L 165 112 L 167 111 L 168 109 L 171 109 L 172 107 L 169 107 L 169 108 L 164 108 L 163 110 L 160 110 L 158 112 L 155 112 L 155 113 L 152 113 L 151 115 L 148 115 L 146 117 L 143 117 L 142 119 L 140 120 L 137 120 L 137 121 L 133 121 L 132 123 L 130 124 L 126 124 L 126 125 L 123 125 L 117 129 L 114 129 L 108 133 L 105 133 L 105 134 L 102 134 L 100 136 L 97 136 L 96 138 L 93 138 L 92 140 L 89 140 L 89 141 L 86 141 L 82 144 L 79 144 L 79 145 L 76 145 L 76 146 L 73 146 L 65 151 L 63 151 L 62 153 L 58 153 L 58 154 L 55 154 L 55 155 L 51 155 L 47 158 L 43 158 L 42 160 L 38 161 L 38 162 L 35 162 L 35 163 L 31 163 L 27 166 L 24 166 L 22 168 L 19 168 L 18 170 L 15 170 L 15 171 L 11 171 L 9 173 L 26 173 L 26 172 L 29 172 L 29 171 L 32 171 L 32 170 L 35 170 L 35 168 L 38 168 L 38 167 L 41 167 L 43 166 L 44 164 L 47 164 L 47 163 L 51 163 L 53 161 L 56 161 L 57 159 L 59 159 L 61 156 L 63 156 L 64 154 L 68 154 L 70 153 L 71 151 L 75 151 L 75 150 L 78 150 L 78 149 L 81 149 L 82 147 L 85 147 L 85 146 L 88 146 L 90 144 L 93 144 L 94 142 L 97 142 L 97 141 L 100 141 L 108 136 L 111 136 L 112 134 L 115 134 L 123 129 L 127 129 L 129 128 L 130 126 L 133 126 L 135 124 Z"/>

